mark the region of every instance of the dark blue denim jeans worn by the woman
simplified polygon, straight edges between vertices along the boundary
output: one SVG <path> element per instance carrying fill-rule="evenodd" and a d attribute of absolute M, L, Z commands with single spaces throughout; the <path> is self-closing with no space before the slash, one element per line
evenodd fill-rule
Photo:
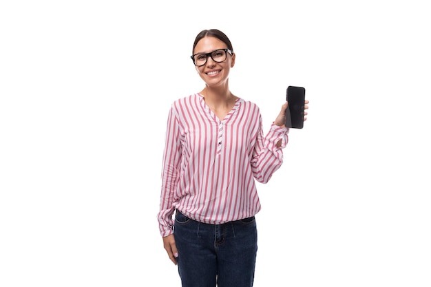
<path fill-rule="evenodd" d="M 204 224 L 177 211 L 174 237 L 182 287 L 252 287 L 257 253 L 255 217 Z"/>

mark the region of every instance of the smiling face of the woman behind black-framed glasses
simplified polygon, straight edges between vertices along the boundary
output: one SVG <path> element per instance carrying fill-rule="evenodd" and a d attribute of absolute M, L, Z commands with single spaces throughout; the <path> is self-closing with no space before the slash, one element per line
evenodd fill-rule
<path fill-rule="evenodd" d="M 215 37 L 206 36 L 196 44 L 193 54 L 210 53 L 219 49 L 227 49 L 227 45 Z M 235 65 L 235 54 L 231 56 L 227 52 L 226 60 L 220 63 L 213 61 L 211 56 L 207 56 L 207 63 L 200 67 L 196 66 L 196 70 L 207 85 L 215 87 L 227 83 L 229 71 L 233 65 Z"/>

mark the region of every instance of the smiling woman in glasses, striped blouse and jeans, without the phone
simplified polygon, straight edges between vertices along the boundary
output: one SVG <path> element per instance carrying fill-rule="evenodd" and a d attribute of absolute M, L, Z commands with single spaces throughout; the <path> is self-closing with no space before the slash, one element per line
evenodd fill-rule
<path fill-rule="evenodd" d="M 288 103 L 264 136 L 257 105 L 229 90 L 235 53 L 228 37 L 203 30 L 191 59 L 205 86 L 169 111 L 160 234 L 182 286 L 253 286 L 254 215 L 260 211 L 255 180 L 268 182 L 282 164 Z"/>

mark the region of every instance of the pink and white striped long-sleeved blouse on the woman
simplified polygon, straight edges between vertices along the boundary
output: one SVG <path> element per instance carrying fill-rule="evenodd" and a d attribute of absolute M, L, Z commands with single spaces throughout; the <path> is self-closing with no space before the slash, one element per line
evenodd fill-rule
<path fill-rule="evenodd" d="M 280 168 L 287 134 L 285 127 L 271 125 L 264 136 L 259 108 L 242 98 L 223 120 L 200 94 L 174 101 L 162 161 L 160 234 L 174 233 L 175 209 L 209 224 L 255 215 L 255 180 L 266 183 Z"/>

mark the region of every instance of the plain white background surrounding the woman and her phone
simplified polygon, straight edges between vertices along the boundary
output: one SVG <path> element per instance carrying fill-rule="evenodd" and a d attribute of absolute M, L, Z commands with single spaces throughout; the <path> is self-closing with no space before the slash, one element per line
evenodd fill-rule
<path fill-rule="evenodd" d="M 0 286 L 180 286 L 156 213 L 165 124 L 203 83 L 200 30 L 237 54 L 231 90 L 304 129 L 259 184 L 255 287 L 431 286 L 426 1 L 2 1 Z"/>

